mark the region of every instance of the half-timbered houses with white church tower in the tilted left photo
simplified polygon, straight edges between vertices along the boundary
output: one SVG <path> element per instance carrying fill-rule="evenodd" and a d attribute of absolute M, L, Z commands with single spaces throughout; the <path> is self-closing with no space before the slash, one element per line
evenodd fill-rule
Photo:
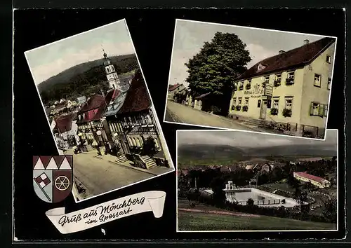
<path fill-rule="evenodd" d="M 143 149 L 147 139 L 152 139 L 158 150 L 155 158 L 166 163 L 152 102 L 141 71 L 120 81 L 105 52 L 103 66 L 110 90 L 88 99 L 80 97 L 81 106 L 77 111 L 55 118 L 53 132 L 58 145 L 65 143 L 62 146 L 67 149 L 75 140 L 76 144 L 86 144 L 88 150 L 91 149 L 90 144 L 97 143 L 114 151 L 117 161 L 123 163 L 128 160 L 129 154 Z M 150 156 L 137 158 L 138 163 L 135 164 L 139 167 L 150 169 L 157 165 Z"/>

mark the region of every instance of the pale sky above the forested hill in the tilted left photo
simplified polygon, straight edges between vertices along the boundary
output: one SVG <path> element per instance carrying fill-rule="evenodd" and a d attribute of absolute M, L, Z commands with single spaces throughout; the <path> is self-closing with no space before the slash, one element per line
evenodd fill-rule
<path fill-rule="evenodd" d="M 102 48 L 109 56 L 135 53 L 125 20 L 28 50 L 25 56 L 38 85 L 74 65 L 102 58 Z"/>

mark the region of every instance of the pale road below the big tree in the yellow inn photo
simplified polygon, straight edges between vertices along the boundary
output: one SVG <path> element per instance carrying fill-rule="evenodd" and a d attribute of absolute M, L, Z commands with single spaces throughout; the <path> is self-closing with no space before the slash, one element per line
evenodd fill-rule
<path fill-rule="evenodd" d="M 242 125 L 237 120 L 206 113 L 197 109 L 192 109 L 190 106 L 178 104 L 173 101 L 167 101 L 165 120 L 174 123 L 204 125 L 213 128 L 230 128 L 237 130 L 264 132 L 258 128 L 251 128 L 247 125 Z"/>

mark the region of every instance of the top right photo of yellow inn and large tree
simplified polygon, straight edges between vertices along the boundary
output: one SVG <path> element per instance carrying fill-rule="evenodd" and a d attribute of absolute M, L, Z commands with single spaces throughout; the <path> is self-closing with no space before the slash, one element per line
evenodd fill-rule
<path fill-rule="evenodd" d="M 336 37 L 176 20 L 164 121 L 324 139 Z"/>

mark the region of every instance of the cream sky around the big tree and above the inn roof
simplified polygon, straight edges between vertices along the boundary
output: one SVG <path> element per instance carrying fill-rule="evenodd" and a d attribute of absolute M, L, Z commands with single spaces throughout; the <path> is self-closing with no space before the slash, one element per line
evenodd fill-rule
<path fill-rule="evenodd" d="M 325 37 L 177 20 L 168 84 L 183 83 L 185 86 L 188 85 L 185 82 L 188 73 L 184 64 L 199 53 L 204 42 L 211 41 L 216 32 L 237 34 L 239 39 L 246 43 L 246 50 L 249 50 L 252 59 L 247 65 L 248 69 L 260 60 L 277 55 L 279 50 L 288 51 L 303 46 L 305 39 L 313 42 Z"/>

